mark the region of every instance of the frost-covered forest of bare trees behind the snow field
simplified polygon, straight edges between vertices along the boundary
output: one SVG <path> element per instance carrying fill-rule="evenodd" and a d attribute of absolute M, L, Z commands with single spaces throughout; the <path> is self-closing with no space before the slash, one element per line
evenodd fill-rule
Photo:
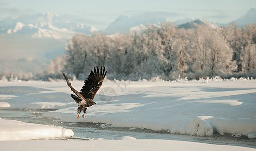
<path fill-rule="evenodd" d="M 65 71 L 84 80 L 95 65 L 105 66 L 110 80 L 255 78 L 256 25 L 184 29 L 164 22 L 127 34 L 76 34 L 47 74 L 61 78 Z"/>

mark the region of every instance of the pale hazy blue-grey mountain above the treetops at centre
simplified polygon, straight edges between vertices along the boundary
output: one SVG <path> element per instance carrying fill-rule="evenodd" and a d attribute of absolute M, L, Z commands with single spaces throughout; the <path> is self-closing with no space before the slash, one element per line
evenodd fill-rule
<path fill-rule="evenodd" d="M 142 28 L 143 25 L 158 24 L 159 22 L 165 22 L 166 17 L 161 16 L 150 16 L 150 15 L 138 15 L 133 17 L 128 16 L 119 16 L 114 22 L 112 22 L 108 28 L 105 30 L 107 34 L 118 33 L 127 33 L 133 28 Z"/>

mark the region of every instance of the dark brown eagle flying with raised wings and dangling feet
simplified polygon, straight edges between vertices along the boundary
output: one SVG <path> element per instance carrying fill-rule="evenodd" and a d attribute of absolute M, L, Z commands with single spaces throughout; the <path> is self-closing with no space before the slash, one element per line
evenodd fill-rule
<path fill-rule="evenodd" d="M 96 95 L 97 91 L 100 89 L 103 83 L 103 80 L 107 74 L 107 71 L 105 72 L 105 67 L 102 70 L 102 66 L 100 66 L 100 71 L 98 66 L 96 66 L 96 68 L 97 68 L 97 71 L 95 67 L 94 67 L 94 72 L 91 70 L 91 73 L 89 74 L 88 78 L 85 80 L 84 82 L 85 84 L 80 90 L 80 92 L 78 92 L 76 89 L 74 89 L 71 86 L 71 83 L 69 82 L 66 74 L 62 72 L 71 91 L 73 91 L 77 95 L 76 96 L 71 94 L 71 97 L 76 101 L 76 103 L 79 106 L 77 109 L 77 113 L 78 113 L 77 118 L 80 117 L 80 113 L 82 112 L 82 110 L 84 110 L 83 118 L 85 118 L 87 107 L 90 107 L 96 104 L 96 102 L 93 101 L 93 98 Z"/>

